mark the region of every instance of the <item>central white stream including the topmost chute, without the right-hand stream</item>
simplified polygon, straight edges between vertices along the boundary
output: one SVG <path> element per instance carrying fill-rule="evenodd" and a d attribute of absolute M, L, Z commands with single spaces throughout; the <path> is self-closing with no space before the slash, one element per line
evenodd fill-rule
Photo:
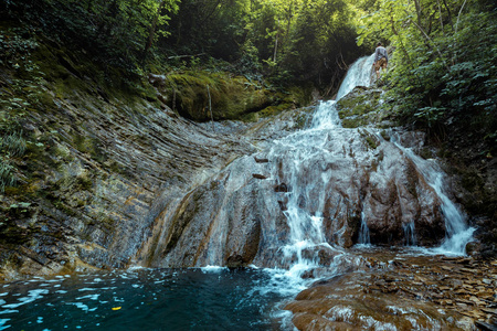
<path fill-rule="evenodd" d="M 343 79 L 337 100 L 352 90 L 356 86 L 370 85 L 370 71 L 372 65 L 372 56 L 361 57 L 356 61 L 349 68 Z M 321 102 L 317 107 L 310 127 L 306 130 L 297 131 L 288 137 L 275 141 L 275 147 L 269 151 L 271 159 L 283 159 L 283 154 L 290 156 L 290 162 L 286 158 L 287 171 L 290 173 L 287 183 L 292 191 L 287 193 L 287 210 L 285 215 L 290 229 L 289 242 L 282 248 L 283 259 L 289 263 L 289 269 L 284 275 L 277 274 L 278 279 L 302 290 L 306 287 L 307 281 L 303 281 L 302 277 L 306 273 L 320 268 L 319 254 L 327 252 L 334 255 L 334 260 L 328 268 L 328 273 L 340 263 L 346 255 L 345 250 L 339 247 L 331 246 L 325 236 L 322 214 L 319 211 L 325 210 L 325 195 L 320 194 L 318 201 L 313 203 L 316 205 L 316 213 L 309 213 L 302 206 L 303 200 L 313 200 L 313 191 L 325 190 L 329 178 L 326 173 L 314 180 L 311 183 L 303 184 L 302 179 L 306 178 L 306 171 L 309 162 L 315 162 L 316 158 L 326 159 L 332 157 L 332 151 L 326 148 L 329 139 L 340 139 L 340 134 L 336 129 L 341 128 L 341 121 L 336 110 L 336 100 Z M 363 244 L 369 244 L 369 231 L 366 220 L 361 225 L 361 238 Z M 350 261 L 349 261 L 350 263 Z M 360 263 L 360 261 L 356 261 Z M 314 275 L 315 277 L 318 275 Z M 286 284 L 288 285 L 288 284 Z M 283 286 L 283 288 L 287 288 Z"/>

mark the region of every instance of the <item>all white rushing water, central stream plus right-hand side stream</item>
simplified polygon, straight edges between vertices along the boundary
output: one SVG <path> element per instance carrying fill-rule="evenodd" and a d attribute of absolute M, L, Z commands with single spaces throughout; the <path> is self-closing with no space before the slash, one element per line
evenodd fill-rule
<path fill-rule="evenodd" d="M 340 86 L 337 100 L 351 92 L 356 86 L 370 86 L 371 84 L 371 65 L 373 55 L 364 56 L 353 63 L 347 73 L 347 76 Z M 341 131 L 340 131 L 341 130 Z M 336 109 L 336 102 L 322 102 L 317 107 L 311 125 L 308 129 L 295 132 L 286 138 L 275 141 L 274 148 L 269 152 L 269 159 L 284 160 L 284 170 L 289 179 L 288 184 L 292 190 L 287 195 L 287 210 L 285 215 L 289 226 L 289 241 L 281 249 L 283 259 L 289 261 L 289 270 L 287 276 L 293 279 L 300 279 L 303 275 L 319 268 L 318 252 L 331 252 L 335 255 L 334 263 L 329 269 L 334 268 L 335 263 L 340 261 L 340 257 L 346 253 L 341 248 L 334 247 L 327 243 L 324 233 L 322 211 L 325 210 L 324 194 L 318 197 L 313 195 L 314 192 L 326 188 L 326 172 L 320 178 L 315 175 L 308 180 L 307 171 L 311 169 L 309 163 L 316 164 L 316 159 L 325 159 L 334 151 L 328 150 L 325 146 L 331 139 L 342 139 L 341 122 Z M 383 140 L 384 142 L 384 140 Z M 390 143 L 390 142 L 388 142 Z M 425 181 L 433 188 L 442 202 L 442 211 L 445 218 L 446 239 L 441 247 L 431 249 L 436 254 L 464 255 L 465 246 L 472 239 L 474 228 L 466 225 L 464 213 L 453 203 L 444 192 L 443 178 L 444 173 L 434 160 L 424 160 L 416 156 L 411 149 L 402 147 L 399 142 L 395 146 L 410 158 L 419 172 L 424 177 Z M 285 157 L 282 157 L 285 154 Z M 281 169 L 278 171 L 282 171 Z M 276 173 L 274 173 L 276 177 Z M 309 212 L 304 204 L 310 203 L 317 212 Z M 359 232 L 358 243 L 362 245 L 370 244 L 370 233 L 368 228 L 368 215 L 361 213 L 361 228 Z M 403 225 L 405 245 L 415 246 L 416 235 L 414 220 Z M 320 254 L 319 253 L 319 254 Z M 329 271 L 328 269 L 328 271 Z M 316 275 L 315 275 L 316 276 Z M 302 281 L 302 280 L 299 280 Z M 297 281 L 300 286 L 302 282 Z"/>

